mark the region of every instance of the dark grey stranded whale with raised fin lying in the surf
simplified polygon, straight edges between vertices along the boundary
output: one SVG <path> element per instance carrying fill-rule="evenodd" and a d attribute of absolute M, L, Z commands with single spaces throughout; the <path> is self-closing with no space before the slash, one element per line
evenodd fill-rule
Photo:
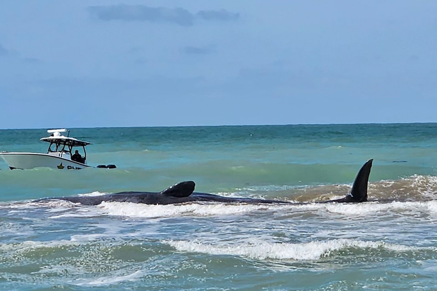
<path fill-rule="evenodd" d="M 373 159 L 367 161 L 358 171 L 354 184 L 345 197 L 336 200 L 321 201 L 316 203 L 339 202 L 339 203 L 359 203 L 367 201 L 367 185 L 369 181 L 370 170 Z M 170 186 L 161 192 L 119 192 L 114 194 L 100 196 L 68 196 L 44 198 L 37 201 L 61 199 L 82 205 L 98 205 L 101 202 L 132 202 L 143 204 L 177 204 L 185 202 L 224 202 L 224 203 L 249 203 L 249 204 L 303 204 L 293 203 L 280 200 L 223 197 L 220 195 L 193 192 L 195 183 L 193 181 L 184 181 Z"/>

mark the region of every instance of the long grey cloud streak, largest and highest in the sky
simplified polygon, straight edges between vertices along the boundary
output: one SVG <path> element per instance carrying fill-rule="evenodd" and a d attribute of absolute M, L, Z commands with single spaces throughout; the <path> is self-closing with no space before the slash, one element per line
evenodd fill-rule
<path fill-rule="evenodd" d="M 238 13 L 231 13 L 225 9 L 201 10 L 193 14 L 184 8 L 147 7 L 146 5 L 108 5 L 90 6 L 88 11 L 93 17 L 102 21 L 149 21 L 174 23 L 181 26 L 192 26 L 196 19 L 205 21 L 230 21 L 239 18 Z"/>

